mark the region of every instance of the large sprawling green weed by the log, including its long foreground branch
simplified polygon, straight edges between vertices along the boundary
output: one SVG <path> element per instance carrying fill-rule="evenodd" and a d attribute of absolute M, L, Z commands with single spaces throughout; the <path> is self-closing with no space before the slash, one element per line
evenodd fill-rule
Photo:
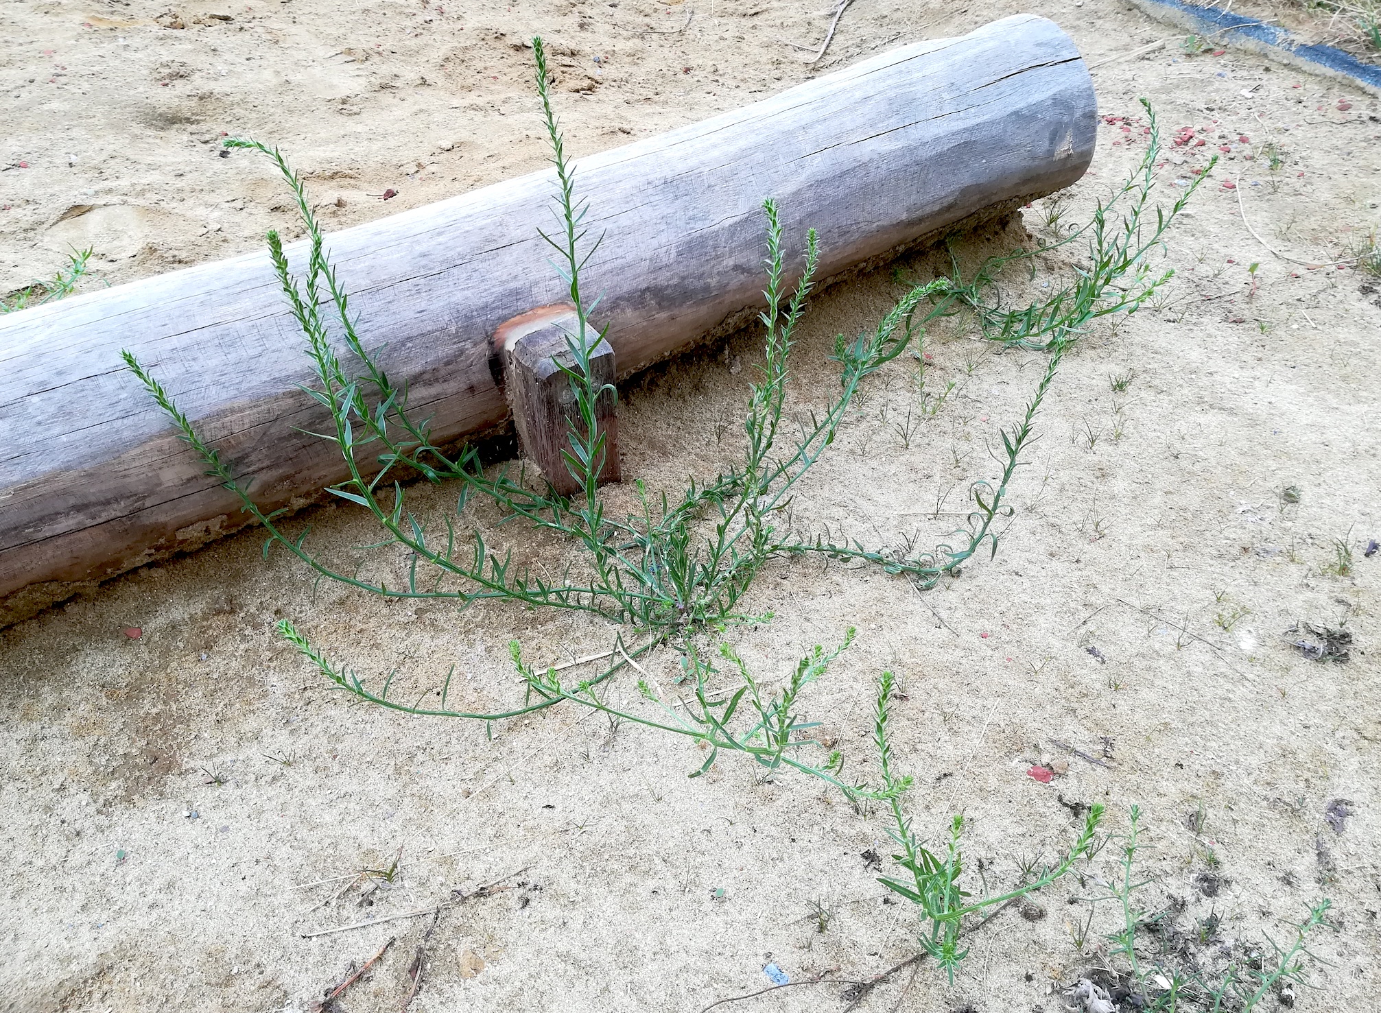
<path fill-rule="evenodd" d="M 543 237 L 557 253 L 558 271 L 576 306 L 576 320 L 566 335 L 570 362 L 561 367 L 574 402 L 570 450 L 565 454 L 565 466 L 579 487 L 574 495 L 561 495 L 550 483 L 534 480 L 522 469 L 514 473 L 505 466 L 486 468 L 474 447 L 447 451 L 434 440 L 428 424 L 410 410 L 406 391 L 388 378 L 381 355 L 370 351 L 358 333 L 349 297 L 326 254 L 325 237 L 301 177 L 282 152 L 258 141 L 232 139 L 226 145 L 257 150 L 275 163 L 305 226 L 307 261 L 301 277 L 290 269 L 276 232 L 269 233 L 268 246 L 284 298 L 307 338 L 315 375 L 308 393 L 329 417 L 326 431 L 319 435 L 337 447 L 347 473 L 345 480 L 326 491 L 363 509 L 378 524 L 383 538 L 370 548 L 403 551 L 406 580 L 387 584 L 370 578 L 363 569 L 347 571 L 308 545 L 309 531 L 289 534 L 280 523 L 282 511 L 264 512 L 250 495 L 250 480 L 239 476 L 232 462 L 200 436 L 163 385 L 134 355 L 126 352 L 124 360 L 177 425 L 182 439 L 206 461 L 209 473 L 235 493 L 242 508 L 268 533 L 265 553 L 279 545 L 309 567 L 318 580 L 337 581 L 387 599 L 458 606 L 510 602 L 529 609 L 597 616 L 616 627 L 613 647 L 605 654 L 545 669 L 529 664 L 521 646 L 512 643 L 511 660 L 522 676 L 526 696 L 507 709 L 479 712 L 452 704 L 454 668 L 439 689 L 425 690 L 417 698 L 402 697 L 394 690 L 392 675 L 381 682 L 369 680 L 329 657 L 291 621 L 280 622 L 282 636 L 333 685 L 359 700 L 412 715 L 485 722 L 568 702 L 603 712 L 616 726 L 627 720 L 695 741 L 706 749 L 706 758 L 692 776 L 707 771 L 720 754 L 736 752 L 751 758 L 765 778 L 782 770 L 798 770 L 838 787 L 855 805 L 881 803 L 895 824 L 889 832 L 898 845 L 896 861 L 903 874 L 882 882 L 917 905 L 925 926 L 921 934 L 925 952 L 953 974 L 967 952 L 960 948 L 965 919 L 972 923 L 996 909 L 994 905 L 1040 890 L 1066 875 L 1076 861 L 1090 857 L 1102 807 L 1095 806 L 1087 814 L 1077 840 L 1055 864 L 1032 869 L 1012 892 L 974 900 L 960 886 L 963 818 L 954 817 L 946 843 L 929 850 L 916 836 L 906 814 L 903 796 L 911 780 L 894 771 L 888 741 L 889 700 L 895 689 L 891 673 L 885 673 L 878 686 L 874 722 L 880 784 L 869 784 L 866 777 L 847 777 L 844 756 L 824 745 L 815 731 L 819 722 L 807 719 L 807 690 L 848 647 L 853 631 L 849 629 L 834 650 L 815 647 L 779 683 L 754 676 L 721 638 L 733 624 L 768 618 L 742 611 L 740 602 L 772 559 L 823 555 L 859 560 L 905 576 L 924 589 L 946 574 L 958 576 L 961 564 L 981 551 L 994 553 L 998 541 L 994 522 L 1012 512 L 1007 502 L 1008 487 L 1022 453 L 1034 439 L 1036 415 L 1065 353 L 1095 320 L 1137 312 L 1170 280 L 1171 272 L 1153 271 L 1149 259 L 1199 181 L 1168 211 L 1153 208 L 1159 132 L 1148 105 L 1152 134 L 1145 160 L 1120 189 L 1097 204 L 1087 224 L 1069 229 L 1040 250 L 989 258 L 971 276 L 965 276 L 952 255 L 949 275 L 911 284 L 876 328 L 836 341 L 831 359 L 838 366 L 838 389 L 795 429 L 786 425 L 786 388 L 797 328 L 815 286 L 819 240 L 813 230 L 808 233 L 798 280 L 790 284 L 787 279 L 795 272 L 789 269 L 783 250 L 780 211 L 772 200 L 764 201 L 766 308 L 760 315 L 764 357 L 749 386 L 742 458 L 708 482 L 692 480 L 675 498 L 666 493 L 652 495 L 639 482 L 638 512 L 616 518 L 605 511 L 598 489 L 608 447 L 597 425 L 595 407 L 610 388 L 595 381 L 590 368 L 591 352 L 605 331 L 592 320 L 598 299 L 587 299 L 581 287 L 581 272 L 598 240 L 587 242 L 588 208 L 576 196 L 574 168 L 566 157 L 551 104 L 540 39 L 533 40 L 533 51 L 536 87 L 557 175 L 557 228 Z M 1025 265 L 1034 276 L 1037 257 L 1080 242 L 1087 247 L 1085 259 L 1074 266 L 1070 284 L 1040 302 L 1015 309 L 1003 305 L 997 293 L 1003 271 Z M 851 403 L 869 377 L 902 355 L 927 324 L 961 312 L 974 316 L 986 340 L 1045 357 L 1045 368 L 1025 411 L 1001 433 L 998 478 L 976 482 L 969 490 L 972 505 L 965 526 L 934 548 L 913 547 L 905 552 L 798 530 L 786 506 L 805 473 L 834 443 Z M 341 345 L 348 353 L 344 357 L 338 351 Z M 909 442 L 909 424 L 903 429 Z M 461 537 L 449 515 L 441 523 L 427 522 L 410 508 L 405 486 L 406 480 L 418 478 L 438 484 L 454 483 L 458 487 L 457 515 L 467 504 L 483 501 L 499 509 L 501 523 L 526 523 L 562 535 L 579 547 L 577 562 L 559 580 L 548 578 L 515 566 L 510 553 L 490 548 L 478 530 L 470 538 Z M 677 650 L 681 664 L 671 687 L 659 685 L 639 662 L 664 645 Z M 594 661 L 601 664 L 587 676 L 562 676 L 577 664 Z M 638 696 L 631 702 L 617 702 L 612 694 L 610 679 L 624 669 L 634 669 L 639 676 Z"/>

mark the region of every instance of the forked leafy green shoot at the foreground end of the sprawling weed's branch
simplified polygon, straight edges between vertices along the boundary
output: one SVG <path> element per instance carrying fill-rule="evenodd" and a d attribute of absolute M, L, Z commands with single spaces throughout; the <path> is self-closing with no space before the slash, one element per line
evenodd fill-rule
<path fill-rule="evenodd" d="M 964 831 L 964 817 L 954 816 L 952 818 L 943 850 L 936 853 L 917 839 L 911 829 L 911 820 L 902 806 L 902 798 L 911 787 L 911 778 L 898 777 L 892 771 L 892 747 L 888 740 L 892 690 L 892 673 L 882 672 L 877 686 L 873 723 L 873 744 L 877 748 L 882 789 L 874 798 L 884 799 L 889 807 L 892 827 L 888 828 L 887 834 L 900 849 L 900 853 L 894 854 L 892 860 L 906 871 L 907 878 L 906 882 L 902 882 L 891 876 L 880 876 L 878 882 L 918 908 L 923 918 L 921 947 L 953 981 L 954 970 L 968 954 L 968 950 L 958 948 L 964 919 L 997 904 L 1007 904 L 1036 893 L 1069 872 L 1076 861 L 1088 857 L 1103 816 L 1103 806 L 1094 803 L 1090 807 L 1079 839 L 1054 865 L 1043 865 L 1039 871 L 1030 869 L 1030 876 L 1034 878 L 1023 875 L 1022 885 L 1015 890 L 969 900 L 971 894 L 958 883 L 963 874 L 960 839 Z"/>

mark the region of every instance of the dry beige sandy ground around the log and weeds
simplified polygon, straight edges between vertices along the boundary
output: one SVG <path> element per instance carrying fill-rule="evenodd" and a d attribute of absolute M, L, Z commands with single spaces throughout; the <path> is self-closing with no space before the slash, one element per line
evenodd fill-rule
<path fill-rule="evenodd" d="M 12 1 L 0 11 L 0 287 L 55 268 L 69 244 L 94 244 L 110 282 L 255 248 L 289 222 L 286 203 L 260 161 L 218 157 L 222 132 L 284 145 L 330 228 L 537 168 L 521 41 L 533 33 L 563 54 L 562 113 L 584 153 L 1021 10 L 858 0 L 812 69 L 790 41 L 818 43 L 829 17 L 801 0 Z M 1178 276 L 1068 357 L 994 560 L 925 595 L 873 571 L 773 563 L 746 607 L 776 618 L 729 636 L 779 679 L 809 645 L 859 628 L 809 715 L 869 774 L 873 680 L 899 673 L 896 762 L 918 781 L 909 805 L 932 840 L 967 816 L 969 889 L 1008 889 L 1021 856 L 1068 846 L 1072 805 L 1105 802 L 1121 832 L 1139 803 L 1143 904 L 1168 911 L 1167 945 L 1190 962 L 1250 952 L 1266 933 L 1288 940 L 1305 904 L 1330 897 L 1337 930 L 1315 940 L 1317 990 L 1297 1009 L 1374 1009 L 1381 555 L 1363 548 L 1381 537 L 1381 279 L 1309 269 L 1261 240 L 1311 264 L 1364 243 L 1378 224 L 1381 104 L 1175 43 L 1113 61 L 1174 33 L 1101 0 L 1036 10 L 1073 33 L 1110 117 L 1065 222 L 1141 156 L 1139 95 L 1166 127 L 1164 201 L 1226 149 L 1170 236 Z M 1208 144 L 1170 145 L 1182 127 Z M 373 196 L 387 189 L 387 204 Z M 1048 207 L 1025 211 L 1033 236 L 1051 237 Z M 960 254 L 972 264 L 1021 242 L 1014 225 Z M 1016 282 L 1027 297 L 1059 284 L 1070 259 L 1045 257 Z M 900 291 L 882 269 L 815 301 L 794 404 L 836 389 L 833 337 L 870 327 Z M 798 523 L 881 544 L 953 527 L 945 513 L 994 473 L 987 449 L 1041 368 L 953 323 L 925 346 L 927 391 L 956 384 L 939 413 L 905 446 L 916 363 L 876 377 L 800 490 Z M 674 486 L 732 457 L 757 341 L 735 335 L 628 385 L 624 475 Z M 1112 374 L 1132 377 L 1123 393 Z M 609 498 L 613 511 L 631 502 L 627 487 Z M 322 544 L 374 537 L 347 511 L 294 523 L 305 522 Z M 559 547 L 525 531 L 490 534 L 561 564 Z M 1351 573 L 1330 571 L 1335 540 Z M 511 638 L 544 662 L 610 636 L 510 607 L 457 614 L 313 591 L 282 553 L 264 563 L 253 533 L 0 632 L 0 1007 L 308 1009 L 391 937 L 340 1009 L 399 1009 L 418 952 L 413 1010 L 699 1010 L 769 985 L 769 962 L 797 981 L 856 980 L 917 951 L 914 914 L 884 898 L 862 857 L 888 864 L 876 810 L 860 816 L 804 777 L 764 784 L 735 756 L 688 780 L 702 760 L 692 745 L 569 709 L 490 738 L 481 725 L 352 707 L 273 635 L 280 617 L 365 673 L 398 668 L 424 687 L 456 664 L 476 707 L 521 697 Z M 1351 658 L 1304 657 L 1286 636 L 1298 621 L 1345 627 Z M 650 661 L 663 679 L 674 668 L 667 653 Z M 1061 773 L 1040 784 L 1036 762 Z M 1340 799 L 1351 805 L 1334 812 L 1352 816 L 1333 825 Z M 399 849 L 392 883 L 354 878 Z M 1070 901 L 1101 893 L 1114 850 L 1026 916 L 976 932 L 953 984 L 921 965 L 867 1009 L 1061 1009 L 1062 990 L 1109 959 L 1112 905 L 1094 908 L 1080 951 L 1088 907 Z M 492 882 L 501 889 L 439 916 L 381 921 Z M 1217 940 L 1200 944 L 1210 916 Z M 304 938 L 367 919 L 381 923 Z M 842 1009 L 840 991 L 721 1009 Z M 1272 995 L 1261 1009 L 1277 1006 Z"/>

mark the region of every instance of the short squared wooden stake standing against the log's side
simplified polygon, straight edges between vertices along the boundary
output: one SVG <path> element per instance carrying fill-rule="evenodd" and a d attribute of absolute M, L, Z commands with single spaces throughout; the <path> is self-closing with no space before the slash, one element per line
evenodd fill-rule
<path fill-rule="evenodd" d="M 561 370 L 561 366 L 574 368 L 576 359 L 566 341 L 577 337 L 579 330 L 574 306 L 562 305 L 529 311 L 494 331 L 494 351 L 503 357 L 504 389 L 523 457 L 530 458 L 562 495 L 574 495 L 583 487 L 570 473 L 566 454 L 572 451 L 572 429 L 584 432 L 584 422 L 576 409 L 570 375 Z M 590 375 L 605 385 L 619 378 L 608 338 L 590 351 Z M 595 402 L 595 431 L 605 436 L 601 484 L 617 482 L 620 476 L 616 407 L 612 391 Z"/>

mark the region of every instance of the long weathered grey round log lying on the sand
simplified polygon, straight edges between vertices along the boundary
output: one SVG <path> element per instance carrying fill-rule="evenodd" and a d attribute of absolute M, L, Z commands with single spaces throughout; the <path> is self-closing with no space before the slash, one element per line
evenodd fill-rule
<path fill-rule="evenodd" d="M 829 279 L 1070 185 L 1095 119 L 1073 41 L 1018 15 L 580 159 L 588 225 L 608 232 L 584 284 L 603 294 L 621 374 L 751 317 L 764 197 L 789 248 L 819 229 Z M 537 236 L 554 186 L 537 173 L 329 237 L 366 344 L 387 344 L 389 375 L 439 439 L 504 422 L 494 330 L 561 299 Z M 301 264 L 300 246 L 289 254 Z M 302 340 L 264 254 L 0 317 L 0 624 L 243 523 L 122 348 L 255 476 L 265 509 L 344 478 L 331 444 L 294 429 L 315 429 L 320 409 L 297 388 Z"/>

